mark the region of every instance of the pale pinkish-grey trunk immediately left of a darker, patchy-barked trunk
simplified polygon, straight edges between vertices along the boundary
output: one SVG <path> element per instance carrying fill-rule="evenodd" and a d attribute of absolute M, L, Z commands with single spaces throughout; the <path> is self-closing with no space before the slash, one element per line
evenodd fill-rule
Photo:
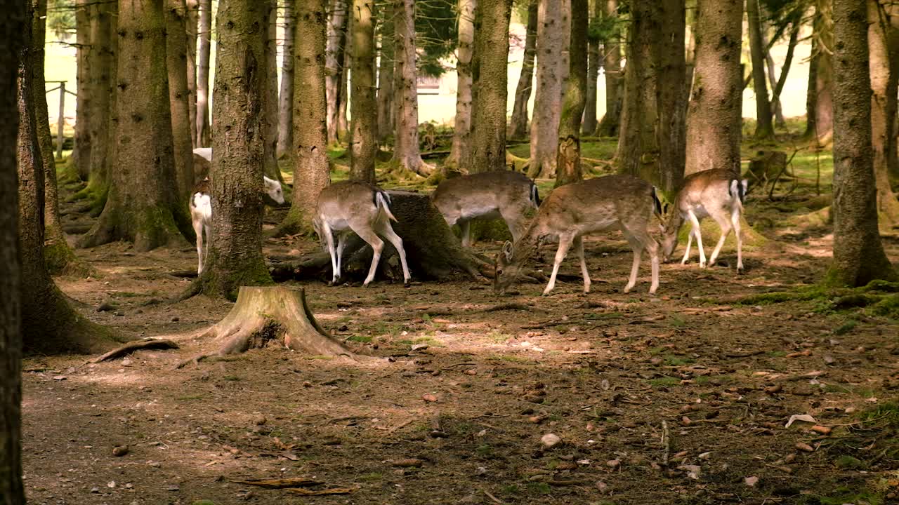
<path fill-rule="evenodd" d="M 531 179 L 556 177 L 562 85 L 568 74 L 571 0 L 539 0 L 537 20 L 537 89 L 528 168 Z"/>

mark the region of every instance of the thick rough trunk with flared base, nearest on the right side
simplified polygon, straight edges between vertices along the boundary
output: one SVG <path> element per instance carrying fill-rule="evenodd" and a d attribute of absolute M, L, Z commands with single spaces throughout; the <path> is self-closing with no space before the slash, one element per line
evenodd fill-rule
<path fill-rule="evenodd" d="M 865 2 L 833 0 L 833 39 L 833 78 L 840 85 L 833 89 L 833 263 L 829 278 L 856 287 L 896 277 L 877 230 Z"/>

